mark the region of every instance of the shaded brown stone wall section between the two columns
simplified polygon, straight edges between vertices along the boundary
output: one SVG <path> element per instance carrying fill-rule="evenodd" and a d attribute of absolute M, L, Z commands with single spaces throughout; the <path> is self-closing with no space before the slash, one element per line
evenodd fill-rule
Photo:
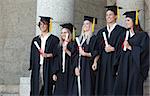
<path fill-rule="evenodd" d="M 107 5 L 106 0 L 75 0 L 74 23 L 78 34 L 81 31 L 85 15 L 98 18 L 95 31 L 105 25 L 105 5 Z"/>

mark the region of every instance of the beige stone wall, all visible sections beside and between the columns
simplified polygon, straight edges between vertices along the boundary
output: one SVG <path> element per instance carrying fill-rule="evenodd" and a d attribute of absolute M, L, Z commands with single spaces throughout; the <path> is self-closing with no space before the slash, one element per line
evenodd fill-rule
<path fill-rule="evenodd" d="M 74 24 L 80 33 L 84 15 L 98 18 L 96 31 L 105 25 L 105 5 L 116 0 L 74 0 Z M 150 0 L 145 0 L 145 30 L 150 33 Z M 20 77 L 29 76 L 30 43 L 36 34 L 37 0 L 0 0 L 0 95 L 18 94 Z M 150 77 L 145 82 L 148 95 Z M 8 95 L 9 96 L 9 95 Z"/>

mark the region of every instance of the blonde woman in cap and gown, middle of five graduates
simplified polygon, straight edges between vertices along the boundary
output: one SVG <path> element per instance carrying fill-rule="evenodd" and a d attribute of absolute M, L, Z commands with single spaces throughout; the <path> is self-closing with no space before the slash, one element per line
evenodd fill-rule
<path fill-rule="evenodd" d="M 81 46 L 74 45 L 74 53 L 72 54 L 74 64 L 75 79 L 72 86 L 73 96 L 91 96 L 92 95 L 92 64 L 95 57 L 94 47 L 96 44 L 95 36 L 92 33 L 93 24 L 97 23 L 97 19 L 90 16 L 84 16 L 81 35 L 78 38 Z M 80 56 L 79 56 L 80 54 Z M 80 63 L 80 66 L 79 66 Z M 79 79 L 80 78 L 80 79 Z"/>

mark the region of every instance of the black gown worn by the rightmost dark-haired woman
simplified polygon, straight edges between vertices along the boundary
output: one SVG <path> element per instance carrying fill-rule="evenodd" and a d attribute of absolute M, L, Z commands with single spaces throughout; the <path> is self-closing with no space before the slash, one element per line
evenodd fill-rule
<path fill-rule="evenodd" d="M 149 70 L 149 37 L 146 32 L 140 32 L 128 41 L 132 50 L 120 54 L 114 94 L 141 96 Z"/>

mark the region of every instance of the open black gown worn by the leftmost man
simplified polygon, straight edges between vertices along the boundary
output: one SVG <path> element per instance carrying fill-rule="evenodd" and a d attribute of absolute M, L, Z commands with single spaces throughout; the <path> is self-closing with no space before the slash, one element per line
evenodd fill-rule
<path fill-rule="evenodd" d="M 36 48 L 34 41 L 37 41 L 39 46 L 41 45 L 40 36 L 33 38 L 31 44 L 31 52 L 30 52 L 30 68 L 29 70 L 32 71 L 31 73 L 31 96 L 39 96 L 39 75 L 40 75 L 40 53 L 39 50 Z M 59 43 L 59 39 L 54 36 L 50 35 L 46 40 L 45 45 L 45 53 L 52 53 L 52 58 L 44 58 L 43 64 L 43 80 L 44 86 L 42 87 L 42 95 L 48 96 L 52 94 L 52 79 L 51 76 L 55 73 L 55 57 L 56 57 L 56 49 Z"/>

